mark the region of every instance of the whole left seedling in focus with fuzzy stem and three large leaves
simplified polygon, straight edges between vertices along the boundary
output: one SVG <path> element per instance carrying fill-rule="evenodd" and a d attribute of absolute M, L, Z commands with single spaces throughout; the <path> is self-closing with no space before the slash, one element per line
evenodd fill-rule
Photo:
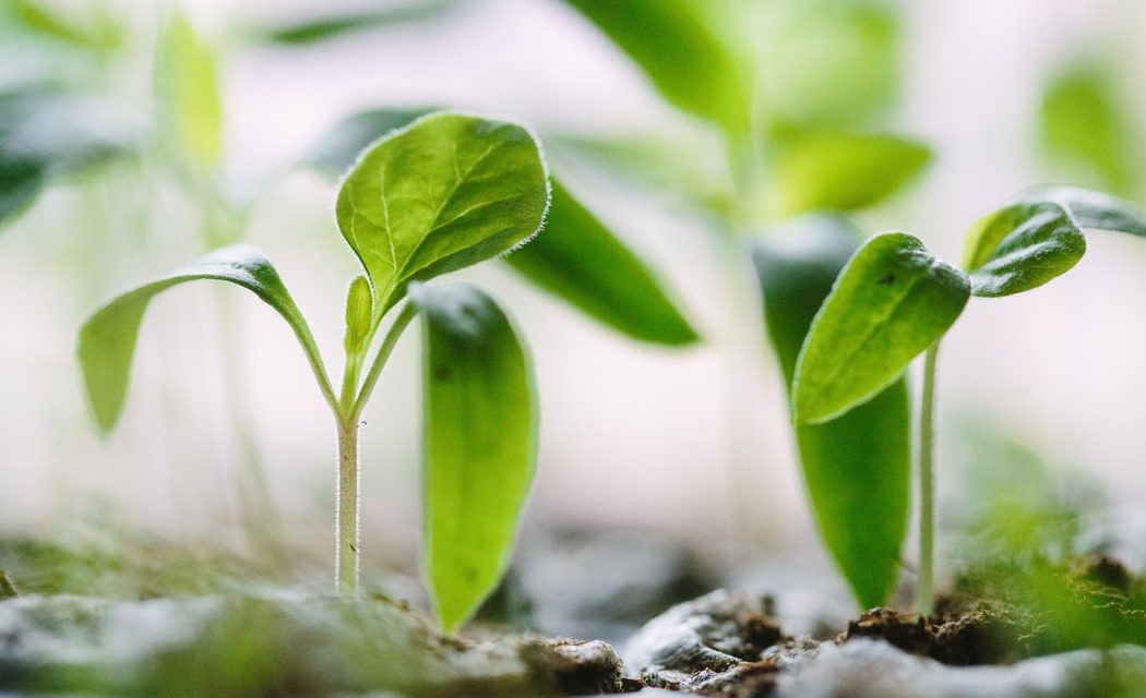
<path fill-rule="evenodd" d="M 335 417 L 335 578 L 352 590 L 359 423 L 394 344 L 421 316 L 424 566 L 439 618 L 453 629 L 504 571 L 533 478 L 536 399 L 526 352 L 497 304 L 469 284 L 423 283 L 527 243 L 548 206 L 543 157 L 521 126 L 435 113 L 392 132 L 362 152 L 338 192 L 338 228 L 366 271 L 347 293 L 340 389 L 274 267 L 236 245 L 118 295 L 88 318 L 79 359 L 95 419 L 105 433 L 119 419 L 140 323 L 156 294 L 197 279 L 253 292 L 295 332 Z"/>

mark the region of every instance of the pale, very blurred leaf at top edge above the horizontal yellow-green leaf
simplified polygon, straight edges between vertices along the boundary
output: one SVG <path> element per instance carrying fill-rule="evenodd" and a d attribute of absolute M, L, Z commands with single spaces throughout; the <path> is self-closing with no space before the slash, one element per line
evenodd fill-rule
<path fill-rule="evenodd" d="M 865 124 L 894 100 L 900 27 L 872 0 L 779 0 L 761 22 L 761 106 L 776 128 Z"/>

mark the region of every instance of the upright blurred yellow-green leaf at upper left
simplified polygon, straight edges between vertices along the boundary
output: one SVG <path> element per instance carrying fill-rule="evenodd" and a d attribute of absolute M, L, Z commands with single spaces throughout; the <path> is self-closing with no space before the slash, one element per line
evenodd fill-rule
<path fill-rule="evenodd" d="M 174 13 L 159 39 L 156 102 L 166 136 L 196 167 L 213 167 L 222 154 L 222 103 L 211 49 L 182 13 Z"/>

